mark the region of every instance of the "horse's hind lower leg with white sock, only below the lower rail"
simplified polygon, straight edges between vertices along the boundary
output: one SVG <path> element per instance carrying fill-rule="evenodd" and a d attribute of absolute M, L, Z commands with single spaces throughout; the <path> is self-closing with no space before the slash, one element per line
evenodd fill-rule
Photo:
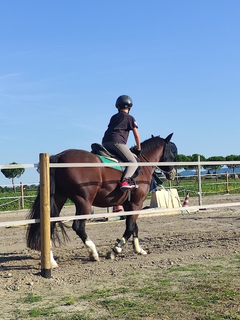
<path fill-rule="evenodd" d="M 85 224 L 86 220 L 74 220 L 72 223 L 72 229 L 76 232 L 76 234 L 81 238 L 82 242 L 85 245 L 85 248 L 87 249 L 89 253 L 89 259 L 90 261 L 99 261 L 98 253 L 96 251 L 95 244 L 91 241 L 90 238 L 88 238 L 86 232 L 85 232 Z"/>

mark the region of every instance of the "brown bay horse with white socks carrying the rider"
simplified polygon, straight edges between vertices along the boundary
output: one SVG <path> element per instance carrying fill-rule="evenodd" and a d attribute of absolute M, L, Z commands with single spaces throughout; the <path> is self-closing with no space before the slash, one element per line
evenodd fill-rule
<path fill-rule="evenodd" d="M 172 134 L 165 139 L 159 136 L 141 143 L 141 155 L 138 155 L 141 162 L 171 162 L 175 160 L 177 149 L 174 143 L 170 142 Z M 130 148 L 133 152 L 134 147 Z M 100 158 L 85 150 L 69 149 L 49 157 L 50 163 L 100 163 Z M 89 214 L 91 206 L 113 207 L 122 205 L 124 211 L 136 211 L 142 209 L 142 203 L 150 191 L 151 177 L 156 167 L 142 166 L 141 172 L 135 178 L 138 189 L 130 194 L 120 191 L 118 182 L 122 172 L 110 167 L 55 167 L 50 168 L 50 216 L 58 217 L 60 211 L 69 198 L 75 204 L 75 215 Z M 168 180 L 174 179 L 173 166 L 157 167 L 164 172 Z M 29 211 L 29 219 L 40 217 L 40 195 L 39 189 L 35 201 Z M 126 241 L 132 236 L 133 251 L 139 255 L 147 254 L 138 241 L 138 227 L 136 219 L 138 214 L 126 215 L 125 231 L 121 239 L 117 239 L 106 254 L 106 259 L 114 259 L 122 251 Z M 81 238 L 88 251 L 90 261 L 99 261 L 95 244 L 87 236 L 85 231 L 86 219 L 74 220 L 72 229 Z M 56 228 L 56 222 L 50 223 L 51 249 L 52 242 L 63 242 Z M 63 239 L 68 239 L 64 224 L 58 221 Z M 27 247 L 33 250 L 40 250 L 40 224 L 30 224 L 26 231 Z M 50 250 L 51 268 L 57 267 L 52 250 Z"/>

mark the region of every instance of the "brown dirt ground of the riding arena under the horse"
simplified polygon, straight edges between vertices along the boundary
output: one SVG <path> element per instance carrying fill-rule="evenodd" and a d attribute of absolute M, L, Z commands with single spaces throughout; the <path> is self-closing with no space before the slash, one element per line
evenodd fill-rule
<path fill-rule="evenodd" d="M 240 195 L 221 195 L 202 198 L 203 204 L 239 202 Z M 183 202 L 183 199 L 182 199 Z M 197 198 L 189 199 L 197 205 Z M 145 201 L 144 206 L 149 205 Z M 94 213 L 106 209 L 94 208 Z M 62 214 L 73 215 L 73 207 L 64 207 Z M 2 212 L 0 221 L 25 219 L 26 212 Z M 139 243 L 146 256 L 133 253 L 131 239 L 114 261 L 105 260 L 105 254 L 124 231 L 124 220 L 87 224 L 88 236 L 95 243 L 100 262 L 90 262 L 81 240 L 71 228 L 70 241 L 53 249 L 58 268 L 51 270 L 51 278 L 40 276 L 40 254 L 26 248 L 25 227 L 0 228 L 0 319 L 15 319 L 16 308 L 23 308 L 20 298 L 29 293 L 67 296 L 85 292 L 98 283 L 115 285 L 125 271 L 165 267 L 187 262 L 198 262 L 211 257 L 236 255 L 240 252 L 240 208 L 224 207 L 192 213 L 139 217 Z M 70 222 L 68 222 L 70 224 Z M 78 305 L 78 307 L 80 307 Z M 84 306 L 81 305 L 81 308 Z"/>

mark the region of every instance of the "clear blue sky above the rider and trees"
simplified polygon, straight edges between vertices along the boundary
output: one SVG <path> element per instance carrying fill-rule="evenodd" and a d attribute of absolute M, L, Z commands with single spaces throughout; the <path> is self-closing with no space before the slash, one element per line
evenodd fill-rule
<path fill-rule="evenodd" d="M 181 154 L 240 153 L 238 0 L 12 0 L 0 12 L 0 164 L 90 150 L 122 94 L 141 141 L 173 132 Z"/>

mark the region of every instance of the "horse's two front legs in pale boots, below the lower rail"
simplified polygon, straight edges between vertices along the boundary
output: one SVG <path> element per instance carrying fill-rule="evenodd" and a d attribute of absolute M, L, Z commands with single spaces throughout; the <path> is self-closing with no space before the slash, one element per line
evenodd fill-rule
<path fill-rule="evenodd" d="M 106 254 L 106 259 L 114 259 L 117 253 L 120 253 L 122 251 L 122 248 L 124 247 L 126 241 L 130 238 L 132 235 L 133 237 L 133 250 L 135 253 L 139 255 L 146 254 L 146 251 L 144 251 L 141 246 L 139 245 L 138 241 L 138 227 L 136 224 L 136 219 L 138 215 L 127 215 L 126 216 L 126 229 L 121 239 L 117 239 L 115 245 L 111 250 L 109 250 Z"/>

